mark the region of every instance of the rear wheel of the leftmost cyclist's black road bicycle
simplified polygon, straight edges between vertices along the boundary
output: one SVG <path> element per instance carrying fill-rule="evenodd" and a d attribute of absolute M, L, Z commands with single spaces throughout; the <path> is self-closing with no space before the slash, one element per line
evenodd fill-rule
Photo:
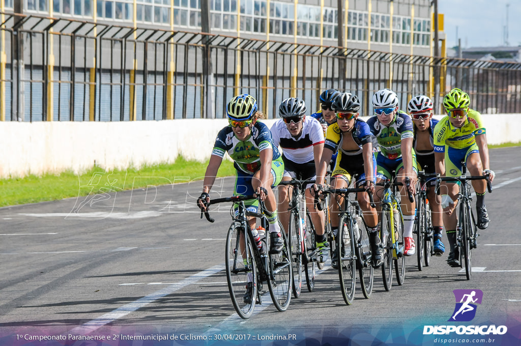
<path fill-rule="evenodd" d="M 282 225 L 279 226 L 282 228 Z M 293 266 L 291 264 L 291 249 L 285 232 L 280 232 L 284 241 L 282 251 L 278 254 L 269 254 L 268 289 L 271 300 L 278 311 L 286 311 L 291 301 Z"/>

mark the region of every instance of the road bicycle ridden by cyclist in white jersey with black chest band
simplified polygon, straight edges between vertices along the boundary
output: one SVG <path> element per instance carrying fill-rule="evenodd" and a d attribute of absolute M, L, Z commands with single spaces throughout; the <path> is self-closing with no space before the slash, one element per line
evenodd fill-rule
<path fill-rule="evenodd" d="M 293 263 L 293 296 L 298 298 L 302 290 L 302 268 L 306 276 L 306 285 L 309 292 L 315 288 L 315 265 L 319 269 L 324 267 L 324 256 L 318 252 L 315 244 L 315 227 L 311 214 L 306 208 L 304 189 L 306 184 L 314 181 L 291 180 L 281 181 L 283 186 L 291 186 L 292 194 L 289 204 L 288 242 Z"/>

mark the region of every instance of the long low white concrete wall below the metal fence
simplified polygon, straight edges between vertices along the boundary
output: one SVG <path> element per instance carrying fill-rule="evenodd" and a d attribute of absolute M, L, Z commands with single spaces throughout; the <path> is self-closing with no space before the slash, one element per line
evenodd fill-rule
<path fill-rule="evenodd" d="M 490 144 L 521 141 L 521 114 L 482 115 Z M 271 127 L 274 119 L 263 120 Z M 134 122 L 0 122 L 0 177 L 205 160 L 226 119 Z"/>

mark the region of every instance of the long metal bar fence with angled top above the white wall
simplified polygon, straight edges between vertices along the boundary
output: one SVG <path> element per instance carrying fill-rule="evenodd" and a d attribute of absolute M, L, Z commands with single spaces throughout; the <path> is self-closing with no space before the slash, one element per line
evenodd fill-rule
<path fill-rule="evenodd" d="M 0 115 L 3 120 L 160 120 L 224 117 L 227 101 L 250 93 L 273 118 L 280 102 L 335 88 L 361 98 L 391 88 L 400 107 L 427 94 L 436 113 L 454 87 L 482 113 L 521 113 L 521 64 L 432 58 L 131 28 L 3 14 Z M 340 72 L 343 71 L 343 72 Z M 439 71 L 440 86 L 433 81 Z"/>

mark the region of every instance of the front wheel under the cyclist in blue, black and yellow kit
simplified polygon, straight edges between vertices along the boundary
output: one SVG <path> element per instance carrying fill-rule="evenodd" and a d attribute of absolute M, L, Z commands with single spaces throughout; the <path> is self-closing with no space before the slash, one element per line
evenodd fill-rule
<path fill-rule="evenodd" d="M 353 223 L 348 214 L 340 215 L 338 227 L 338 274 L 344 302 L 353 303 L 356 283 L 355 244 L 353 239 Z M 344 250 L 344 251 L 342 251 Z M 342 254 L 342 252 L 344 252 Z"/>

